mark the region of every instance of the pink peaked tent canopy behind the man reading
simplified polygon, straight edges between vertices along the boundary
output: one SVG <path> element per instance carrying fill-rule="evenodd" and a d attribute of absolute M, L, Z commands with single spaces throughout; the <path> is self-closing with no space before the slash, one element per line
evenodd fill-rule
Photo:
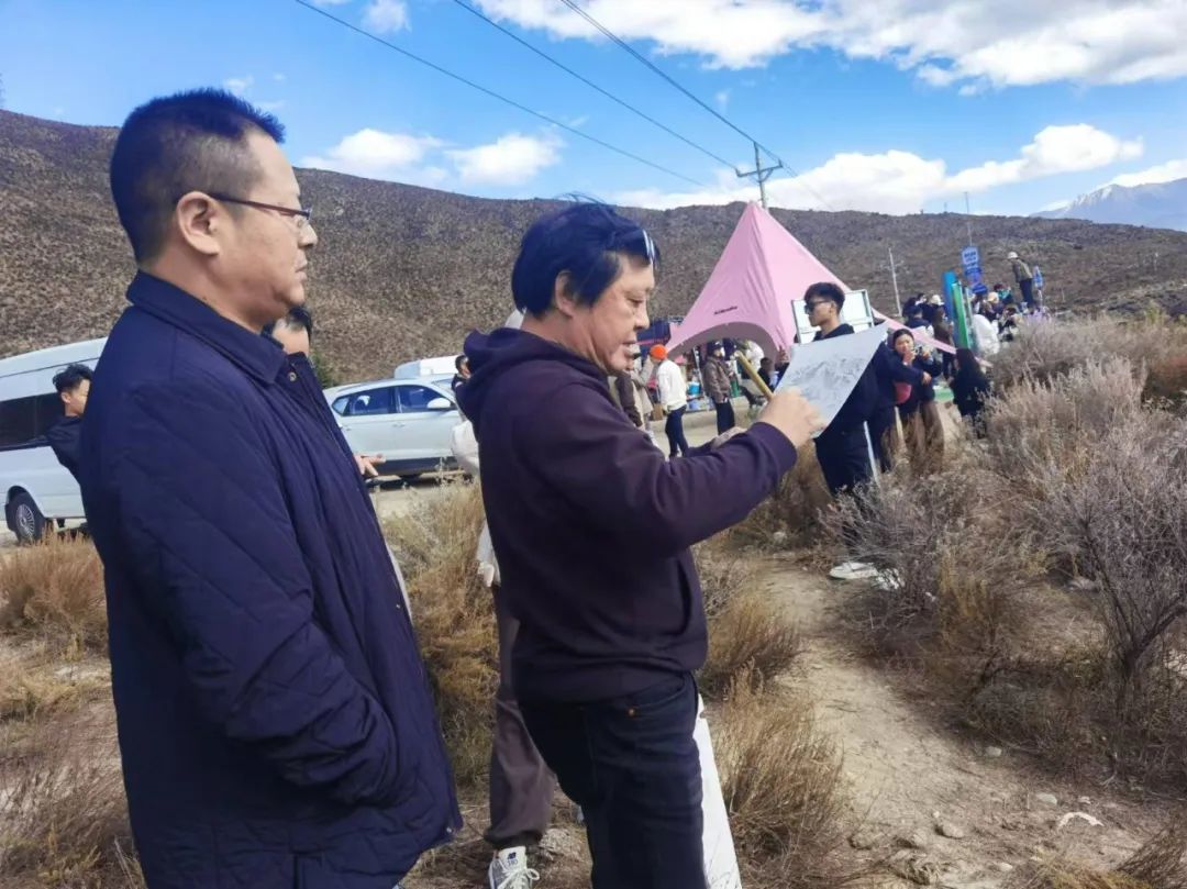
<path fill-rule="evenodd" d="M 832 281 L 849 292 L 774 216 L 758 204 L 748 204 L 709 282 L 684 322 L 672 326 L 668 351 L 688 351 L 712 339 L 754 339 L 767 355 L 791 349 L 795 343 L 792 303 L 818 281 Z M 874 315 L 890 329 L 903 326 L 880 312 Z M 953 351 L 928 337 L 918 338 Z"/>

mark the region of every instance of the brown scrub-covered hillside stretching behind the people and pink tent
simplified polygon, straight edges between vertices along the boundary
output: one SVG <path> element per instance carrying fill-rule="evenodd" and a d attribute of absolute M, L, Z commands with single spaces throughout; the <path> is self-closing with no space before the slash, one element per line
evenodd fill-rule
<path fill-rule="evenodd" d="M 101 336 L 123 305 L 131 253 L 107 190 L 115 131 L 0 112 L 0 356 Z M 299 171 L 320 246 L 310 277 L 319 348 L 344 380 L 449 354 L 510 309 L 508 277 L 523 229 L 547 202 L 489 201 Z M 696 298 L 741 204 L 631 211 L 665 254 L 656 313 Z M 776 210 L 825 265 L 893 307 L 886 248 L 902 292 L 937 290 L 959 261 L 965 217 Z M 990 279 L 1007 249 L 1034 258 L 1065 306 L 1178 310 L 1187 299 L 1187 234 L 1074 220 L 978 216 Z M 792 296 L 792 294 L 788 294 Z M 796 294 L 798 296 L 798 294 Z"/>

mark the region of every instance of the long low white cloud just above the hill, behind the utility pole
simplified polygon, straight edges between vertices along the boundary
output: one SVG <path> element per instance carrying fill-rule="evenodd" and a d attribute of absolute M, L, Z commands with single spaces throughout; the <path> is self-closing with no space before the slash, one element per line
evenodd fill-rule
<path fill-rule="evenodd" d="M 794 178 L 767 183 L 769 203 L 800 209 L 868 210 L 907 214 L 925 203 L 957 198 L 960 192 L 983 192 L 1011 183 L 1059 173 L 1093 170 L 1141 154 L 1140 141 L 1125 141 L 1078 123 L 1047 127 L 1010 160 L 990 160 L 950 173 L 942 159 L 927 159 L 907 151 L 881 154 L 843 152 Z M 658 189 L 622 192 L 615 201 L 655 208 L 687 204 L 723 204 L 753 201 L 753 183 L 740 183 L 732 171 L 718 171 L 713 186 L 699 191 L 664 192 Z"/>

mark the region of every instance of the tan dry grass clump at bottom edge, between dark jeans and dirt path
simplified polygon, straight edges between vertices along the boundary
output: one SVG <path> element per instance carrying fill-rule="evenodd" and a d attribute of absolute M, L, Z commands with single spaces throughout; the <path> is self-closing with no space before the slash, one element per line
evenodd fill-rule
<path fill-rule="evenodd" d="M 811 700 L 736 677 L 715 730 L 715 748 L 747 884 L 842 885 L 842 760 L 817 729 Z"/>

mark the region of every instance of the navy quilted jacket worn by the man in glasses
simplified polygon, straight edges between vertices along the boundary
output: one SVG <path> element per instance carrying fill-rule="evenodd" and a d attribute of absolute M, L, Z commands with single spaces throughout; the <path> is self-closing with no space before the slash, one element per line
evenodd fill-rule
<path fill-rule="evenodd" d="M 151 889 L 392 889 L 459 825 L 425 668 L 312 368 L 147 274 L 81 484 Z"/>

